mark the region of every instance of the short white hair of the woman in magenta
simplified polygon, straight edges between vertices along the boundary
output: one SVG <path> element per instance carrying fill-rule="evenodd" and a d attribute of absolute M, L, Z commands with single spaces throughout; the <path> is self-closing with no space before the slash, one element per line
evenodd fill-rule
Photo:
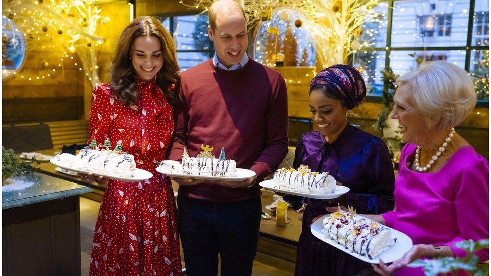
<path fill-rule="evenodd" d="M 460 124 L 475 107 L 474 82 L 467 72 L 446 61 L 425 61 L 397 79 L 413 88 L 413 106 L 425 117 L 427 125 L 450 129 Z"/>

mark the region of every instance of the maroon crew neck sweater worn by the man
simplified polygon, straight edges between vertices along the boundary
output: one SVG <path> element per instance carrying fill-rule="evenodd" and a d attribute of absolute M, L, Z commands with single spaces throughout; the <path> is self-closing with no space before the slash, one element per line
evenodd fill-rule
<path fill-rule="evenodd" d="M 212 202 L 260 197 L 259 182 L 288 152 L 287 93 L 281 74 L 252 59 L 233 71 L 216 68 L 210 59 L 181 74 L 179 98 L 168 159 L 180 161 L 184 146 L 192 157 L 202 151 L 202 144 L 213 146 L 217 157 L 224 147 L 226 159 L 258 176 L 251 188 L 202 183 L 180 186 L 179 194 Z"/>

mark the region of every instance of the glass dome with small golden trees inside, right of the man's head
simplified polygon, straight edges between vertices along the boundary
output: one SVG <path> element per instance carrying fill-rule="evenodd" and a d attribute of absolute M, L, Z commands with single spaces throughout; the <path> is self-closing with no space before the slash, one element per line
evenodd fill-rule
<path fill-rule="evenodd" d="M 305 17 L 297 11 L 274 11 L 271 20 L 257 29 L 254 60 L 267 66 L 315 66 L 315 38 L 305 24 Z"/>

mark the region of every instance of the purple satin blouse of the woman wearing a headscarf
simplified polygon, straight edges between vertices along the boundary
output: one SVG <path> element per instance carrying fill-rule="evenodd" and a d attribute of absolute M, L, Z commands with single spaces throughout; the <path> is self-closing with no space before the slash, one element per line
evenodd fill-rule
<path fill-rule="evenodd" d="M 394 207 L 394 168 L 387 146 L 349 123 L 333 143 L 326 142 L 318 131 L 304 134 L 297 143 L 293 167 L 301 164 L 312 171 L 327 171 L 350 188 L 347 202 L 360 214 L 380 214 Z M 296 209 L 303 202 L 290 196 L 285 200 Z M 306 202 L 319 210 L 332 206 L 323 200 L 308 198 Z"/>

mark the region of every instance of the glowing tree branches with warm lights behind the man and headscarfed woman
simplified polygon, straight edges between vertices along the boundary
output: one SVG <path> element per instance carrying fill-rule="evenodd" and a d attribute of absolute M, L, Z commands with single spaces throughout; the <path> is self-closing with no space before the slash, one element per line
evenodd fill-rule
<path fill-rule="evenodd" d="M 260 21 L 271 20 L 273 10 L 292 9 L 302 14 L 307 22 L 303 26 L 316 39 L 317 61 L 325 68 L 335 63 L 346 63 L 347 57 L 362 45 L 356 39 L 362 34 L 361 24 L 380 21 L 373 8 L 387 5 L 378 0 L 240 0 L 246 12 L 248 29 Z M 208 8 L 214 0 L 181 0 L 180 3 L 193 9 Z M 192 3 L 192 4 L 191 4 Z M 364 42 L 369 46 L 368 42 Z"/>

